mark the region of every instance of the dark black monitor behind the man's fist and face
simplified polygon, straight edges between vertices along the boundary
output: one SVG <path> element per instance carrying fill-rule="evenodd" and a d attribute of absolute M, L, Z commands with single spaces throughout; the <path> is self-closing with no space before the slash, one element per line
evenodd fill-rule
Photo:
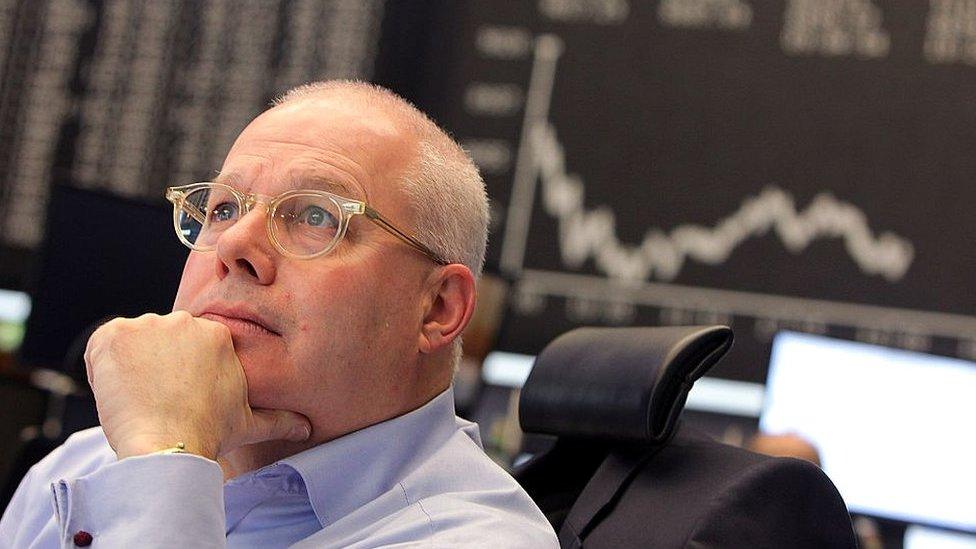
<path fill-rule="evenodd" d="M 83 345 L 79 336 L 105 317 L 171 310 L 188 253 L 172 212 L 162 198 L 52 188 L 23 366 L 60 369 L 72 344 Z"/>

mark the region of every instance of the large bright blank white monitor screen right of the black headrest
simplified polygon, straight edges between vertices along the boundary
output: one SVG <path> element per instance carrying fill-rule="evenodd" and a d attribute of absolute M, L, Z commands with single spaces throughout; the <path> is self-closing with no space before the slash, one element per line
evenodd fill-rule
<path fill-rule="evenodd" d="M 976 363 L 776 336 L 760 416 L 795 433 L 855 513 L 976 532 Z"/>

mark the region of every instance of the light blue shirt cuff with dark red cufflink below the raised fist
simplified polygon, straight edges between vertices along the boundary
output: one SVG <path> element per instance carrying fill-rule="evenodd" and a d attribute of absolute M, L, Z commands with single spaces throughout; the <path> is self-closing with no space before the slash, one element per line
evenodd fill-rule
<path fill-rule="evenodd" d="M 92 547 L 225 546 L 223 473 L 200 456 L 130 457 L 51 492 L 64 548 L 79 533 Z"/>

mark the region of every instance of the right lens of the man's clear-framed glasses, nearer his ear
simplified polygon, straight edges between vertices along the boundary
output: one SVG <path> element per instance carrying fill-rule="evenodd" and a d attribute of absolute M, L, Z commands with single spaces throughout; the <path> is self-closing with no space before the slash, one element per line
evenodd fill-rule
<path fill-rule="evenodd" d="M 275 209 L 271 230 L 282 248 L 298 256 L 329 250 L 342 236 L 339 204 L 323 196 L 294 195 Z"/>

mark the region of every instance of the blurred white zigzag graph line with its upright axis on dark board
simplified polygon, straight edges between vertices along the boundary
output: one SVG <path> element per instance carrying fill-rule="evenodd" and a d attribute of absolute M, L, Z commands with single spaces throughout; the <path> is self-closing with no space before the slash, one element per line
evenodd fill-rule
<path fill-rule="evenodd" d="M 900 280 L 908 271 L 915 256 L 911 242 L 890 232 L 876 237 L 855 205 L 824 192 L 799 211 L 792 195 L 773 186 L 743 200 L 738 210 L 713 227 L 684 224 L 667 232 L 651 229 L 639 245 L 620 242 L 615 214 L 609 207 L 586 209 L 584 182 L 568 172 L 566 152 L 548 119 L 561 52 L 558 37 L 536 39 L 502 244 L 501 267 L 506 272 L 522 271 L 537 181 L 542 186 L 543 208 L 558 220 L 563 263 L 578 268 L 592 258 L 601 272 L 620 281 L 673 280 L 687 259 L 719 265 L 744 241 L 770 232 L 795 254 L 815 240 L 841 238 L 862 272 L 889 281 Z"/>

